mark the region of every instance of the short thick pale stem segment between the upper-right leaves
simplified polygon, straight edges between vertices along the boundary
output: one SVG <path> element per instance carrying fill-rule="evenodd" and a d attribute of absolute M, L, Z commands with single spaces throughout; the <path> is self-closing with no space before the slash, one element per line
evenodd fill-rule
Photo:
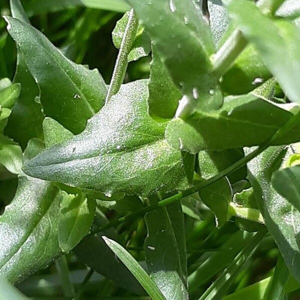
<path fill-rule="evenodd" d="M 213 71 L 217 78 L 226 72 L 246 45 L 247 40 L 235 29 L 214 55 Z"/>

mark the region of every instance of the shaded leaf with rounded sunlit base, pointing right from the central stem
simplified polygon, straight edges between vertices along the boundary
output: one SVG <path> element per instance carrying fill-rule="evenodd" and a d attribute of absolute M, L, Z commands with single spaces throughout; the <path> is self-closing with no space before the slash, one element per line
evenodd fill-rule
<path fill-rule="evenodd" d="M 276 105 L 250 93 L 227 96 L 216 112 L 195 113 L 185 121 L 173 119 L 167 124 L 165 136 L 174 148 L 191 153 L 259 145 L 293 115 L 288 109 L 289 104 Z M 273 144 L 299 139 L 299 128 L 293 127 Z"/>

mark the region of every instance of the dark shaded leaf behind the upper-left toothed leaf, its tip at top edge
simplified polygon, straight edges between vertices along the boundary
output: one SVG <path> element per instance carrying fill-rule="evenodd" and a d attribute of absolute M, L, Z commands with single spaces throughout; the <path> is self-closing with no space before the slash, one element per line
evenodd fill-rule
<path fill-rule="evenodd" d="M 10 9 L 13 17 L 29 24 L 29 20 L 19 0 L 10 0 Z M 37 101 L 39 94 L 38 85 L 30 74 L 18 48 L 13 82 L 19 82 L 22 88 L 4 132 L 24 149 L 29 139 L 33 137 L 42 139 L 41 124 L 43 113 L 41 112 L 41 105 Z"/>

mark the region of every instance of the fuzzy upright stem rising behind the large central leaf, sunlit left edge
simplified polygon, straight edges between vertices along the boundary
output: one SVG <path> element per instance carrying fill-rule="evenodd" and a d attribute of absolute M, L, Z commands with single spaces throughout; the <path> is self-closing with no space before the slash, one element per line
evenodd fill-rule
<path fill-rule="evenodd" d="M 131 50 L 132 44 L 134 42 L 137 27 L 138 27 L 138 21 L 135 17 L 134 10 L 131 9 L 129 11 L 128 22 L 124 31 L 121 46 L 114 65 L 105 103 L 107 103 L 110 100 L 111 96 L 113 96 L 118 92 L 124 80 L 124 76 L 128 64 L 127 57 Z"/>

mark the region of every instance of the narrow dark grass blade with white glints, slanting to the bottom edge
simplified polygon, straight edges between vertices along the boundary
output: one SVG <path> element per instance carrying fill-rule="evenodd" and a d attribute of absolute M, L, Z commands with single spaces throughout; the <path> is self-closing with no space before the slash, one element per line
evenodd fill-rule
<path fill-rule="evenodd" d="M 205 290 L 199 300 L 220 299 L 266 233 L 266 230 L 258 231 L 251 238 L 249 243 L 235 256 L 233 261 L 223 270 L 220 276 L 218 276 L 217 279 Z"/>

